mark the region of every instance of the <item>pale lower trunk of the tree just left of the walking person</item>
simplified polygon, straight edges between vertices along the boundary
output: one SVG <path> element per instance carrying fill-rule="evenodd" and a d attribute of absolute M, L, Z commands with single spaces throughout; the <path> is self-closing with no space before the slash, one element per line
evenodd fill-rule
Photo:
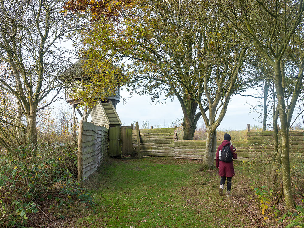
<path fill-rule="evenodd" d="M 212 148 L 214 148 L 213 143 L 213 136 L 216 132 L 212 132 L 210 127 L 207 128 L 207 138 L 206 138 L 206 148 L 205 148 L 205 155 L 204 155 L 204 161 L 203 161 L 203 169 L 213 169 L 214 168 L 214 153 L 212 151 Z M 216 139 L 215 139 L 216 144 Z"/>

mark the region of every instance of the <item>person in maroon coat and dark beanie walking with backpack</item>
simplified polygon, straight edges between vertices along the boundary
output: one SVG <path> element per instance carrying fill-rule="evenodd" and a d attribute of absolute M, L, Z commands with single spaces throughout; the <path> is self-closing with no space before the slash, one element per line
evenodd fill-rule
<path fill-rule="evenodd" d="M 231 143 L 231 136 L 224 135 L 224 141 L 216 151 L 216 168 L 219 169 L 219 176 L 222 177 L 219 187 L 219 195 L 223 196 L 225 181 L 227 178 L 227 197 L 231 196 L 232 177 L 234 176 L 233 159 L 237 159 L 237 151 Z"/>

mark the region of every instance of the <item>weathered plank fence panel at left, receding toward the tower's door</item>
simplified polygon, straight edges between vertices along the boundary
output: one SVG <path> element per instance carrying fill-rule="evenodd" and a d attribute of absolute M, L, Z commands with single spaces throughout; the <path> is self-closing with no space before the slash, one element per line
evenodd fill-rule
<path fill-rule="evenodd" d="M 108 129 L 80 121 L 78 136 L 78 182 L 97 170 L 108 155 Z"/>

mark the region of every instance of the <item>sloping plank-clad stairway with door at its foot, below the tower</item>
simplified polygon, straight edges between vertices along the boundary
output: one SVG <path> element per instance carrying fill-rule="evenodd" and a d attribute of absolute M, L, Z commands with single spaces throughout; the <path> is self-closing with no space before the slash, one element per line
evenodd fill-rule
<path fill-rule="evenodd" d="M 119 157 L 121 155 L 121 121 L 112 101 L 98 100 L 91 111 L 91 117 L 95 125 L 109 129 L 109 156 Z"/>

